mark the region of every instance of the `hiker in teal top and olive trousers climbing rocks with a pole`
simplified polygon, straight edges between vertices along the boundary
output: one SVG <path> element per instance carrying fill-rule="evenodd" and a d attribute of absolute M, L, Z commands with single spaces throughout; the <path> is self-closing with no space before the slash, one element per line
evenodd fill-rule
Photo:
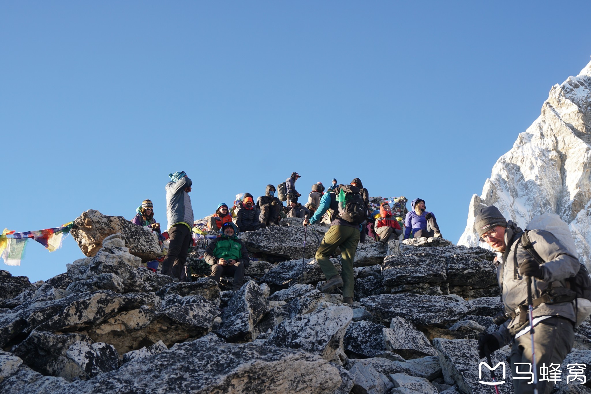
<path fill-rule="evenodd" d="M 342 196 L 345 196 L 345 200 Z M 322 292 L 330 293 L 335 288 L 343 286 L 343 302 L 353 305 L 353 286 L 355 285 L 353 258 L 361 237 L 361 223 L 368 214 L 359 194 L 359 188 L 352 185 L 339 185 L 335 191 L 324 194 L 314 215 L 310 219 L 307 217 L 304 219 L 304 226 L 320 222 L 326 211 L 329 211 L 330 215 L 330 229 L 316 250 L 316 261 L 327 279 Z M 353 211 L 355 214 L 352 214 Z M 343 219 L 343 216 L 349 220 Z M 330 256 L 336 248 L 340 248 L 341 252 L 342 277 L 330 262 Z"/>

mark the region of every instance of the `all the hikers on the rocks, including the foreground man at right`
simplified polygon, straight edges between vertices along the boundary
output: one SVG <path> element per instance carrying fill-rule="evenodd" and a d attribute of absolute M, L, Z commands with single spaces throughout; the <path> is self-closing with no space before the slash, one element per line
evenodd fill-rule
<path fill-rule="evenodd" d="M 183 280 L 184 263 L 191 243 L 193 210 L 189 193 L 192 181 L 184 171 L 174 172 L 169 177 L 171 181 L 165 189 L 170 243 L 161 273 L 180 281 Z M 314 184 L 308 203 L 303 206 L 298 202 L 301 194 L 295 186 L 298 178 L 300 175 L 293 172 L 284 184 L 279 185 L 284 189 L 280 197 L 287 200 L 287 206 L 283 205 L 282 198 L 275 197 L 274 185 L 267 185 L 265 196 L 257 198 L 256 203 L 251 194 L 244 193 L 231 208 L 225 203 L 217 206 L 208 222 L 209 229 L 216 231 L 217 237 L 207 245 L 203 256 L 212 266 L 210 276 L 213 279 L 219 283 L 222 276 L 230 275 L 234 278 L 233 289 L 241 288 L 250 258 L 238 234 L 275 226 L 284 217 L 299 217 L 304 226 L 330 224 L 315 256 L 326 276 L 322 292 L 330 293 L 342 287 L 343 303 L 353 305 L 353 258 L 359 242 L 364 242 L 370 231 L 382 251 L 386 246 L 393 248 L 392 244 L 400 239 L 441 237 L 434 214 L 426 210 L 421 198 L 412 201 L 411 211 L 401 220 L 401 211 L 405 207 L 400 204 L 392 209 L 384 202 L 379 213 L 372 212 L 368 191 L 359 178 L 350 184 L 338 184 L 333 179 L 326 193 L 322 183 Z M 160 225 L 153 218 L 150 200 L 143 201 L 133 221 L 160 231 Z M 574 291 L 567 291 L 571 287 L 570 279 L 581 273 L 582 265 L 577 256 L 553 233 L 545 230 L 524 232 L 506 220 L 495 206 L 482 207 L 475 226 L 480 242 L 498 252 L 495 264 L 504 307 L 501 318 L 495 317 L 499 330 L 480 335 L 479 356 L 490 357 L 494 351 L 512 343 L 510 359 L 514 377 L 521 373 L 518 371 L 521 363 L 533 364 L 534 369 L 536 365 L 560 366 L 573 346 L 573 330 L 577 322 L 576 298 L 573 298 L 576 296 L 571 294 Z M 337 248 L 341 252 L 340 274 L 330 262 Z M 587 275 L 586 271 L 584 275 Z M 589 281 L 588 275 L 586 280 Z M 531 281 L 535 285 L 533 295 Z M 535 328 L 535 337 L 531 327 Z M 536 379 L 534 383 L 513 379 L 513 383 L 516 393 L 547 394 L 553 388 L 551 382 L 544 379 Z"/>

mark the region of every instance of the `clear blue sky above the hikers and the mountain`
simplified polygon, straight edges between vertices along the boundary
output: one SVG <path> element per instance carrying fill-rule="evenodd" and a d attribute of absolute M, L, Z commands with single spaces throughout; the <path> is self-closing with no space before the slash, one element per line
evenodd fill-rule
<path fill-rule="evenodd" d="M 413 4 L 415 3 L 415 4 Z M 0 226 L 87 209 L 196 218 L 292 171 L 426 200 L 457 242 L 473 193 L 591 55 L 589 2 L 0 1 Z M 165 224 L 164 224 L 165 226 Z M 1 229 L 0 229 L 1 230 Z M 30 242 L 31 281 L 83 255 Z"/>

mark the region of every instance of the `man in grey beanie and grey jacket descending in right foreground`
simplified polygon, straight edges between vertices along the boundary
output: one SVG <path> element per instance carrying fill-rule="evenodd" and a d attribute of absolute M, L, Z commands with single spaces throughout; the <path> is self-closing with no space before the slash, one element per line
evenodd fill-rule
<path fill-rule="evenodd" d="M 545 261 L 543 264 L 538 263 L 522 245 L 522 230 L 515 223 L 507 222 L 495 206 L 480 210 L 476 216 L 476 230 L 480 242 L 486 242 L 497 252 L 496 269 L 504 307 L 504 311 L 495 316 L 495 323 L 501 325 L 499 330 L 480 336 L 480 358 L 513 341 L 513 376 L 518 376 L 516 372 L 519 364 L 516 363 L 533 363 L 527 301 L 529 277 L 536 285 L 532 289 L 532 305 L 537 367 L 544 364 L 548 367 L 552 363 L 560 366 L 573 347 L 573 325 L 577 320 L 577 311 L 572 302 L 574 298 L 568 300 L 561 298 L 564 295 L 560 294 L 566 289 L 565 279 L 579 271 L 579 259 L 571 255 L 552 233 L 530 230 L 527 235 L 531 244 Z M 535 288 L 537 291 L 534 291 Z M 513 379 L 515 393 L 533 393 L 534 385 L 528 381 Z M 553 384 L 538 379 L 537 389 L 540 394 L 548 394 Z"/>

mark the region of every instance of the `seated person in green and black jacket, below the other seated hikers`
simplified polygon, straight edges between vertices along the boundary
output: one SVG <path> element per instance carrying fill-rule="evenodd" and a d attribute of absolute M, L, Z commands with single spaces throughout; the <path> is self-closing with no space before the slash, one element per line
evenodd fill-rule
<path fill-rule="evenodd" d="M 219 284 L 222 275 L 233 275 L 233 291 L 244 284 L 244 271 L 250 263 L 248 250 L 238 239 L 238 229 L 234 223 L 224 223 L 220 235 L 207 245 L 203 258 L 212 266 L 211 278 Z"/>

